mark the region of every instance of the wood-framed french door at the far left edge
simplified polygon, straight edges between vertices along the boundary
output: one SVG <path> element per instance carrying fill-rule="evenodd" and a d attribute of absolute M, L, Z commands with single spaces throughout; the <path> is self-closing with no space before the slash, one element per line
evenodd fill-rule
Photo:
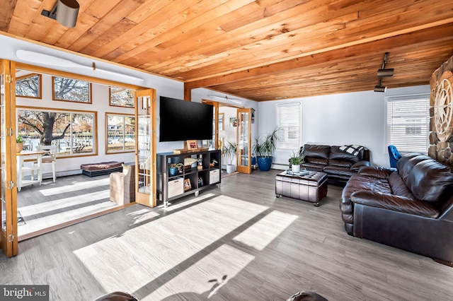
<path fill-rule="evenodd" d="M 0 247 L 8 257 L 18 254 L 14 63 L 0 61 Z"/>

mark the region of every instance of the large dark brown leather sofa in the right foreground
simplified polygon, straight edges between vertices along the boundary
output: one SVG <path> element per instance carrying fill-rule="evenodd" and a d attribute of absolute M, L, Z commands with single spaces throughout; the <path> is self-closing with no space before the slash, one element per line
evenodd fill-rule
<path fill-rule="evenodd" d="M 349 235 L 453 262 L 453 170 L 428 155 L 403 155 L 396 170 L 362 167 L 340 209 Z"/>

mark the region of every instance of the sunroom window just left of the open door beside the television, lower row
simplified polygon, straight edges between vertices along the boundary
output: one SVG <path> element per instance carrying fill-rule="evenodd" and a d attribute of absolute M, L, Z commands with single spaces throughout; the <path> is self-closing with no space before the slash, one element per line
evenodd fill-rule
<path fill-rule="evenodd" d="M 107 153 L 135 150 L 135 117 L 126 114 L 105 114 L 107 121 Z"/>

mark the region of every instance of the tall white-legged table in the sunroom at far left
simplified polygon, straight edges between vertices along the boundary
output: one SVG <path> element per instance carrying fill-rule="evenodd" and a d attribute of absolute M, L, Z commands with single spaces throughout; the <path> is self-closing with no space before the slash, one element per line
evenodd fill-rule
<path fill-rule="evenodd" d="M 47 153 L 47 151 L 21 151 L 21 153 L 16 153 L 17 156 L 17 190 L 21 191 L 22 187 L 33 185 L 33 184 L 41 184 L 42 182 L 42 155 Z M 31 167 L 23 166 L 25 160 L 35 159 L 37 164 Z M 30 179 L 24 179 L 23 174 L 24 172 L 30 172 Z M 35 174 L 36 172 L 36 174 Z M 36 175 L 36 179 L 35 179 Z"/>

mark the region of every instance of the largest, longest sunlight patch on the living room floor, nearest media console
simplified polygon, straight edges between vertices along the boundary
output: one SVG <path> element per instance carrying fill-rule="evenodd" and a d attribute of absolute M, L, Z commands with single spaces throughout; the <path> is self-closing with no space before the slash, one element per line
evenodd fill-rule
<path fill-rule="evenodd" d="M 106 291 L 139 290 L 149 281 L 165 278 L 168 271 L 185 260 L 204 256 L 200 255 L 203 249 L 267 209 L 248 201 L 216 196 L 78 249 L 74 254 Z M 131 271 L 130 278 L 120 276 L 125 271 Z"/>

